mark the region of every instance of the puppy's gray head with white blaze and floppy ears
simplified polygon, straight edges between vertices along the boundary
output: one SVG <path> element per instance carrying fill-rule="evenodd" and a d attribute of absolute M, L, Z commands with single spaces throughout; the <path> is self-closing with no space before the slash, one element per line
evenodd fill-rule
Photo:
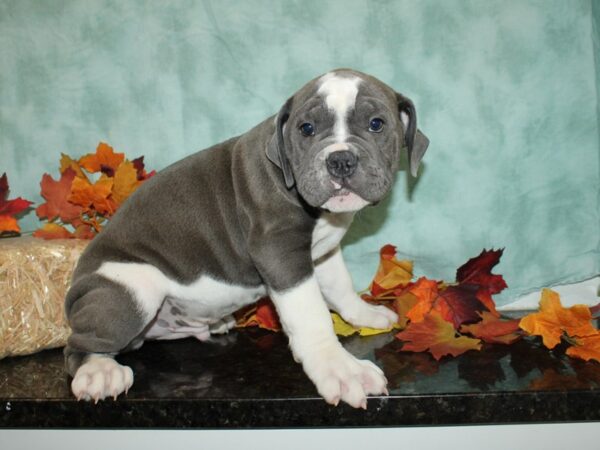
<path fill-rule="evenodd" d="M 346 212 L 389 192 L 404 147 L 416 176 L 428 144 L 408 98 L 343 69 L 312 80 L 285 103 L 267 156 L 309 205 Z"/>

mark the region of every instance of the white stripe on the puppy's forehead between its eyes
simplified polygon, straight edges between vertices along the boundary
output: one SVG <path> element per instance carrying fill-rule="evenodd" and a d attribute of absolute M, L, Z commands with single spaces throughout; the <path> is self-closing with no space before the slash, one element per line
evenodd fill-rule
<path fill-rule="evenodd" d="M 323 75 L 319 80 L 317 93 L 325 98 L 325 104 L 335 114 L 333 132 L 337 142 L 345 142 L 348 137 L 346 115 L 354 109 L 361 81 L 358 77 L 345 78 L 334 73 Z"/>

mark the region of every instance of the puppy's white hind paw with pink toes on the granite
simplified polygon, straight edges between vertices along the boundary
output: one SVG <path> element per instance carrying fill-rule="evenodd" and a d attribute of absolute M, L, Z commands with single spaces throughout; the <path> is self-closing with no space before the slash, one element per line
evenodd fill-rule
<path fill-rule="evenodd" d="M 129 390 L 133 384 L 133 371 L 122 366 L 113 358 L 103 355 L 90 355 L 77 369 L 71 390 L 77 400 L 104 400 Z"/>

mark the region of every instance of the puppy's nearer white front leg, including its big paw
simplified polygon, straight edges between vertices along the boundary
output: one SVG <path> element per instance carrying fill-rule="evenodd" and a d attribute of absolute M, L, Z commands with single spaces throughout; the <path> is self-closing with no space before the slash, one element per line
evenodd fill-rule
<path fill-rule="evenodd" d="M 328 403 L 343 400 L 366 408 L 367 395 L 387 393 L 381 369 L 356 359 L 337 340 L 316 277 L 286 291 L 271 291 L 271 298 L 295 359 Z"/>

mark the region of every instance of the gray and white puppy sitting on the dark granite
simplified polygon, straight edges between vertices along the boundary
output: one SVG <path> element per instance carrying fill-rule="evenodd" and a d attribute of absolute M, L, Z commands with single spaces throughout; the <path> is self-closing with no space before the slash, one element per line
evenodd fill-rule
<path fill-rule="evenodd" d="M 413 103 L 352 70 L 318 77 L 249 132 L 145 182 L 81 256 L 66 298 L 73 393 L 127 392 L 117 353 L 147 339 L 200 340 L 271 296 L 295 359 L 328 403 L 366 408 L 383 372 L 340 345 L 329 309 L 357 326 L 397 316 L 355 293 L 340 240 L 390 190 L 401 149 L 416 174 L 428 145 Z"/>

